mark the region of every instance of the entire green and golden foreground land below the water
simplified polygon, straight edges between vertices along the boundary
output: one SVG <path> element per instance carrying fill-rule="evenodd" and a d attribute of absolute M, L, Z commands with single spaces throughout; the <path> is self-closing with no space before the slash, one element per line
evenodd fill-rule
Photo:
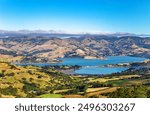
<path fill-rule="evenodd" d="M 150 71 L 140 73 L 134 71 L 105 77 L 79 77 L 51 68 L 22 67 L 0 62 L 0 97 L 150 97 Z"/>

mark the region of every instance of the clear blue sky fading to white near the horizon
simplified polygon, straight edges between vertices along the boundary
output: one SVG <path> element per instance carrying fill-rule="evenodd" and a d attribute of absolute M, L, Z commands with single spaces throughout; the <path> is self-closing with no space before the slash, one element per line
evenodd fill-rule
<path fill-rule="evenodd" d="M 0 0 L 0 29 L 150 34 L 150 0 Z"/>

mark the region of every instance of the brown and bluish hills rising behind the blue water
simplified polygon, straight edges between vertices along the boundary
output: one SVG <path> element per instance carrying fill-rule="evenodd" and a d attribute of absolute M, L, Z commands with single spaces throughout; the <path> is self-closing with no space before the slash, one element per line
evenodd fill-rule
<path fill-rule="evenodd" d="M 68 39 L 61 39 L 58 34 L 39 35 L 1 36 L 0 54 L 50 59 L 74 56 L 99 58 L 118 55 L 150 57 L 150 37 L 90 34 L 76 37 L 67 34 Z"/>

